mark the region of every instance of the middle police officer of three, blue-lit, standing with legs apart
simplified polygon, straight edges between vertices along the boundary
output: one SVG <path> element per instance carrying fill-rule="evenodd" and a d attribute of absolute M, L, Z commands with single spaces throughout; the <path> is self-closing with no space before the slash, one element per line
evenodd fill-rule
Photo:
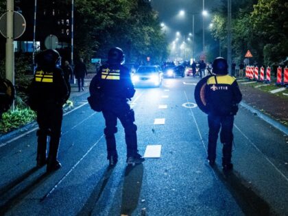
<path fill-rule="evenodd" d="M 137 150 L 137 126 L 134 124 L 134 111 L 130 109 L 128 100 L 134 96 L 130 72 L 125 68 L 124 53 L 119 47 L 108 52 L 108 62 L 99 68 L 90 84 L 90 93 L 101 98 L 101 111 L 106 128 L 104 134 L 107 145 L 107 159 L 109 165 L 118 161 L 115 133 L 117 133 L 117 118 L 125 129 L 125 142 L 127 146 L 127 160 L 129 164 L 142 163 L 145 159 Z"/>

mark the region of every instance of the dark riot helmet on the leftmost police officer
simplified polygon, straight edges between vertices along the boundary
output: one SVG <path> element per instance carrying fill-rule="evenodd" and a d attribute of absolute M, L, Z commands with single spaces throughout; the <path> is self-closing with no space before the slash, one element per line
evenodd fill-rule
<path fill-rule="evenodd" d="M 46 49 L 38 53 L 35 62 L 40 67 L 54 67 L 60 65 L 61 57 L 55 49 Z"/>

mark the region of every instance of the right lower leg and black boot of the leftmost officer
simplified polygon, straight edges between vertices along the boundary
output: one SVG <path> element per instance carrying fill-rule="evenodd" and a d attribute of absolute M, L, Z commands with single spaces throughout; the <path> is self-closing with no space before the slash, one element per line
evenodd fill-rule
<path fill-rule="evenodd" d="M 61 167 L 61 163 L 57 160 L 59 143 L 60 137 L 51 137 L 49 145 L 49 156 L 47 160 L 47 172 L 59 170 Z"/>

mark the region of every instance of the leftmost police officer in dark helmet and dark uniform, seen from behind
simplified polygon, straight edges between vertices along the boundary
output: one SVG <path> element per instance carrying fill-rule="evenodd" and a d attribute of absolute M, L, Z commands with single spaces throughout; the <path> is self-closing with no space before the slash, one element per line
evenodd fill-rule
<path fill-rule="evenodd" d="M 56 50 L 47 49 L 36 55 L 36 72 L 29 85 L 28 104 L 37 113 L 39 129 L 36 162 L 38 167 L 47 164 L 47 172 L 61 167 L 57 159 L 60 144 L 62 105 L 69 94 L 64 81 L 60 55 Z M 49 154 L 46 155 L 47 137 L 50 137 Z"/>

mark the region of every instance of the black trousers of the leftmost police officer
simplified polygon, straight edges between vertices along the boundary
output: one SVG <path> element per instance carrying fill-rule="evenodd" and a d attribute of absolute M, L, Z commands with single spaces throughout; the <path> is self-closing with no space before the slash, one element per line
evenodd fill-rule
<path fill-rule="evenodd" d="M 50 136 L 48 159 L 50 161 L 56 161 L 60 144 L 62 116 L 62 107 L 53 109 L 51 109 L 51 107 L 42 107 L 37 111 L 37 122 L 39 126 L 39 130 L 37 131 L 37 161 L 46 159 L 48 136 Z"/>

